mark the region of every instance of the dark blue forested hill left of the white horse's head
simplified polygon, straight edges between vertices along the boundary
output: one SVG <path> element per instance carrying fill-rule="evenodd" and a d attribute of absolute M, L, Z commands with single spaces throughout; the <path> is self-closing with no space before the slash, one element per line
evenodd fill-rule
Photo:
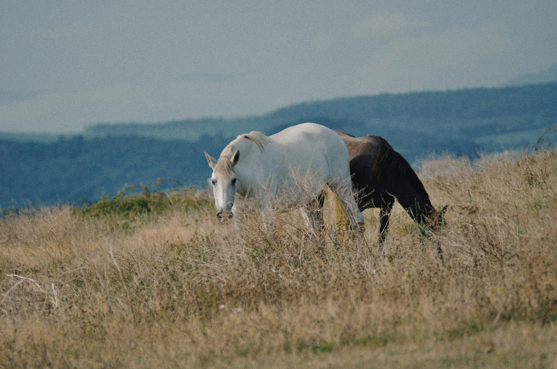
<path fill-rule="evenodd" d="M 91 203 L 124 186 L 150 185 L 159 177 L 184 186 L 205 186 L 211 172 L 203 148 L 217 151 L 232 138 L 203 136 L 196 142 L 137 135 L 60 137 L 55 142 L 0 139 L 0 208 L 30 203 Z M 175 182 L 162 187 L 175 188 Z"/>

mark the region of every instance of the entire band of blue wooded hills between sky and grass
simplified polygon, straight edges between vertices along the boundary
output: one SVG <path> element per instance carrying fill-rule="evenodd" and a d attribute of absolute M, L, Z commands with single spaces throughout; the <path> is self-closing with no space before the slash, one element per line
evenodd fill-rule
<path fill-rule="evenodd" d="M 355 96 L 286 106 L 261 116 L 157 124 L 100 124 L 81 135 L 0 133 L 0 207 L 96 201 L 158 177 L 206 186 L 207 150 L 217 157 L 237 134 L 273 134 L 314 122 L 356 136 L 379 134 L 409 162 L 444 152 L 531 148 L 557 124 L 557 82 Z M 546 146 L 557 134 L 545 137 Z M 172 187 L 171 185 L 168 185 Z"/>

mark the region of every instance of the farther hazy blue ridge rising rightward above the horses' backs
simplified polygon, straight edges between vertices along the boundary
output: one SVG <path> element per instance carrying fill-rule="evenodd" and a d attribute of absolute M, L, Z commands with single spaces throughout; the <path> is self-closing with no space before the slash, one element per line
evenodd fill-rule
<path fill-rule="evenodd" d="M 556 117 L 557 82 L 550 82 L 312 101 L 230 120 L 94 125 L 85 136 L 135 134 L 193 141 L 202 134 L 235 136 L 251 130 L 272 134 L 314 122 L 354 135 L 382 135 L 414 161 L 433 151 L 473 155 L 478 150 L 529 147 L 544 128 L 557 123 Z"/>

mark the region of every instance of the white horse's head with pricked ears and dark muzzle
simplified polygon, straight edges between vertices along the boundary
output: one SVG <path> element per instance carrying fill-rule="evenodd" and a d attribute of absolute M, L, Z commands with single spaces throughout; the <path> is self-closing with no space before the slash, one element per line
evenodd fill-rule
<path fill-rule="evenodd" d="M 213 169 L 213 174 L 209 178 L 209 183 L 213 186 L 214 205 L 217 208 L 217 216 L 220 220 L 228 220 L 232 216 L 232 206 L 236 195 L 236 173 L 234 166 L 240 159 L 240 150 L 232 155 L 231 158 L 221 156 L 218 161 L 205 153 L 209 167 Z"/>

